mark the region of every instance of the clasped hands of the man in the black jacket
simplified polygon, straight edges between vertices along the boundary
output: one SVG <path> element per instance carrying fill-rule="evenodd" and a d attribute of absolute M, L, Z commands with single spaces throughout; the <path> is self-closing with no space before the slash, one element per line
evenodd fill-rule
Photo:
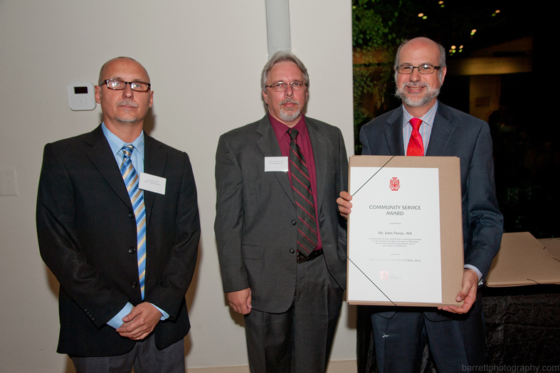
<path fill-rule="evenodd" d="M 154 330 L 161 317 L 162 312 L 153 305 L 147 302 L 140 303 L 132 308 L 128 315 L 122 317 L 123 322 L 117 332 L 131 340 L 143 340 Z"/>

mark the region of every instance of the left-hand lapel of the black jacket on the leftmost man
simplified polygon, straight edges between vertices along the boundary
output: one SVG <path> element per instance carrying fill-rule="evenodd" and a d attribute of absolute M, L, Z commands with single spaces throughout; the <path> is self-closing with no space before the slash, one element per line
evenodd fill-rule
<path fill-rule="evenodd" d="M 122 175 L 120 174 L 117 162 L 115 162 L 115 156 L 112 154 L 109 142 L 107 142 L 105 135 L 103 135 L 101 126 L 90 132 L 85 142 L 90 145 L 90 147 L 85 148 L 85 153 L 88 154 L 95 167 L 105 177 L 105 180 L 115 191 L 115 194 L 132 210 L 132 203 L 130 202 L 125 182 L 122 181 Z"/>

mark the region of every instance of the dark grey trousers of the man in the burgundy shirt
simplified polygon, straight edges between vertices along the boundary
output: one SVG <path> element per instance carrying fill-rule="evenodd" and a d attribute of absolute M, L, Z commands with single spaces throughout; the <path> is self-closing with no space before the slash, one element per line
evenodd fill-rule
<path fill-rule="evenodd" d="M 252 373 L 324 372 L 344 290 L 324 256 L 297 264 L 292 306 L 282 313 L 251 310 L 245 335 Z"/>

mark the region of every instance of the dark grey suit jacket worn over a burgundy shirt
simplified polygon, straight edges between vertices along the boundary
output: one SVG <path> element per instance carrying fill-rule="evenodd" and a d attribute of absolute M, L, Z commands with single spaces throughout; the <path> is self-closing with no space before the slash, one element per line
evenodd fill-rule
<path fill-rule="evenodd" d="M 337 196 L 347 189 L 348 159 L 337 127 L 306 117 L 315 171 L 324 260 L 346 287 L 346 224 Z M 297 210 L 287 172 L 265 172 L 281 157 L 268 115 L 220 137 L 216 151 L 216 241 L 225 293 L 251 288 L 252 305 L 285 312 L 294 298 Z M 322 258 L 320 258 L 322 260 Z"/>

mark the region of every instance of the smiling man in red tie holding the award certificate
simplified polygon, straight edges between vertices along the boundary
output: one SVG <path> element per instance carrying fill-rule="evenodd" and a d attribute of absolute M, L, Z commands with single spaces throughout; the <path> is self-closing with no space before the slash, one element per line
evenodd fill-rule
<path fill-rule="evenodd" d="M 445 49 L 428 38 L 405 41 L 395 59 L 396 95 L 403 105 L 361 128 L 364 155 L 460 158 L 465 269 L 453 305 L 375 307 L 371 315 L 379 372 L 419 372 L 426 340 L 438 372 L 464 372 L 485 358 L 480 292 L 500 248 L 503 219 L 497 206 L 492 140 L 486 122 L 440 103 L 447 73 Z M 347 217 L 352 196 L 337 199 Z"/>

